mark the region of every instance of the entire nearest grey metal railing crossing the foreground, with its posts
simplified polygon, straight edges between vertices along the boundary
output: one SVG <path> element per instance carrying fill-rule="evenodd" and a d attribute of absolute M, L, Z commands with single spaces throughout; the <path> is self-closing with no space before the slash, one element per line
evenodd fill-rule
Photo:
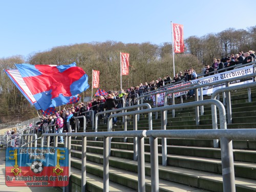
<path fill-rule="evenodd" d="M 201 102 L 201 101 L 198 101 Z M 134 137 L 138 142 L 138 191 L 145 191 L 145 163 L 144 163 L 144 137 L 150 137 L 151 151 L 151 188 L 159 191 L 159 165 L 158 165 L 158 143 L 157 138 L 194 138 L 194 139 L 220 139 L 223 190 L 225 192 L 236 191 L 234 182 L 234 166 L 231 140 L 256 140 L 256 129 L 237 130 L 143 130 L 143 131 L 121 131 L 121 132 L 90 132 L 90 133 L 63 133 L 42 134 L 42 139 L 50 136 L 82 137 L 81 158 L 81 191 L 86 187 L 86 147 L 87 137 L 103 137 L 103 191 L 109 191 L 109 140 L 111 137 Z M 65 146 L 71 150 L 71 142 L 65 139 Z M 47 145 L 49 147 L 49 145 Z M 69 166 L 71 159 L 69 159 Z M 70 167 L 69 167 L 70 169 Z M 70 173 L 70 172 L 69 172 Z M 71 173 L 70 173 L 71 174 Z M 69 190 L 63 188 L 63 190 Z"/>

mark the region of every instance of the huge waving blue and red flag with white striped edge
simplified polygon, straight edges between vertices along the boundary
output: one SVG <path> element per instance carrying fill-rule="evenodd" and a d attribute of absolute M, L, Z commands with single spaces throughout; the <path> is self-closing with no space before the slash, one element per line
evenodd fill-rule
<path fill-rule="evenodd" d="M 77 102 L 78 94 L 89 88 L 87 74 L 75 62 L 62 66 L 15 66 L 16 70 L 5 72 L 36 110 Z"/>

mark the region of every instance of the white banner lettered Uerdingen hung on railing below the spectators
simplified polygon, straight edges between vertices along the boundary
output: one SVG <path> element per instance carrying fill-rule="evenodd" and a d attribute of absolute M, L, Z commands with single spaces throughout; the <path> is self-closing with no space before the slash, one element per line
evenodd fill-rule
<path fill-rule="evenodd" d="M 195 79 L 195 80 L 192 80 L 191 82 L 192 83 L 198 82 L 200 84 L 206 84 L 206 83 L 210 83 L 210 82 L 216 82 L 216 81 L 230 79 L 230 78 L 248 75 L 248 74 L 252 74 L 252 73 L 253 73 L 253 67 L 246 66 L 243 68 L 234 69 L 232 71 L 226 71 L 226 72 L 210 75 L 207 77 Z M 252 82 L 252 81 L 253 81 L 252 78 L 231 81 L 229 86 L 237 86 L 238 84 L 245 84 L 245 83 Z M 225 87 L 226 87 L 225 83 L 215 84 L 214 86 L 204 87 L 203 95 L 212 94 L 213 92 L 215 92 L 215 90 L 220 89 L 220 88 L 225 88 Z M 199 92 L 199 94 L 200 94 L 200 92 Z"/>

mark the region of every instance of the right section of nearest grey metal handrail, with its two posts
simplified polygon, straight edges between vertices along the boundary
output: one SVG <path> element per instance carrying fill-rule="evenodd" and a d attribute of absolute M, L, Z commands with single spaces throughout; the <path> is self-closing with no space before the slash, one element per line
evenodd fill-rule
<path fill-rule="evenodd" d="M 194 138 L 194 139 L 220 139 L 221 161 L 224 192 L 236 191 L 234 182 L 234 166 L 232 141 L 230 140 L 256 140 L 256 129 L 238 130 L 154 130 L 146 131 L 150 137 L 151 151 L 151 183 L 152 191 L 159 191 L 158 174 L 158 137 L 164 138 Z"/>

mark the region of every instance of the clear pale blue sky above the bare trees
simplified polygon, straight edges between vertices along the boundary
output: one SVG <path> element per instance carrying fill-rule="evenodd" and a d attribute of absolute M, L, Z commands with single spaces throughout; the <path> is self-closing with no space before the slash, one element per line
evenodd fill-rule
<path fill-rule="evenodd" d="M 3 0 L 0 58 L 93 41 L 160 45 L 172 42 L 171 21 L 184 25 L 184 38 L 246 29 L 256 25 L 253 6 L 238 0 Z"/>

